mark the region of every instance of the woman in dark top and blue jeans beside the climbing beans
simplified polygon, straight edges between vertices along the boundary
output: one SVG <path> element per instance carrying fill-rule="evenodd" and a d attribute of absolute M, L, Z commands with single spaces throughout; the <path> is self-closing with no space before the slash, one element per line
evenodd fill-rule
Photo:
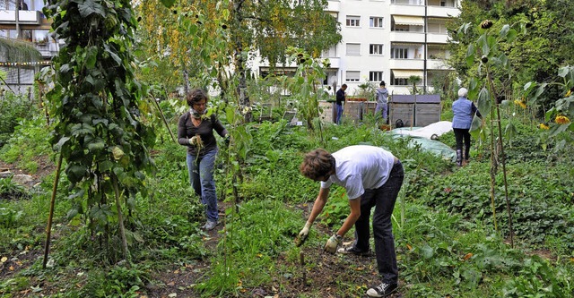
<path fill-rule="evenodd" d="M 217 156 L 217 140 L 213 130 L 228 140 L 229 133 L 212 115 L 206 115 L 209 98 L 201 89 L 193 89 L 186 96 L 189 111 L 179 117 L 178 143 L 187 147 L 187 171 L 189 183 L 205 205 L 207 222 L 205 230 L 213 230 L 219 224 L 217 194 L 213 180 L 213 166 Z"/>

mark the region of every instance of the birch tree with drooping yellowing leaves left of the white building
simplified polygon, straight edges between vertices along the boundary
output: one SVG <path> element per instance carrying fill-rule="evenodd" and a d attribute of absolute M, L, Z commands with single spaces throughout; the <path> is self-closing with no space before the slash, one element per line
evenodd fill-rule
<path fill-rule="evenodd" d="M 152 23 L 144 24 L 146 36 L 159 44 L 148 50 L 179 59 L 182 70 L 196 66 L 192 77 L 200 85 L 212 86 L 215 80 L 215 87 L 245 107 L 249 106 L 247 63 L 251 55 L 259 54 L 274 68 L 286 62 L 288 47 L 300 47 L 318 57 L 341 40 L 337 21 L 325 12 L 326 4 L 326 0 L 187 1 L 170 6 L 171 17 L 153 2 L 143 2 L 138 10 Z M 152 11 L 160 11 L 166 19 Z"/>

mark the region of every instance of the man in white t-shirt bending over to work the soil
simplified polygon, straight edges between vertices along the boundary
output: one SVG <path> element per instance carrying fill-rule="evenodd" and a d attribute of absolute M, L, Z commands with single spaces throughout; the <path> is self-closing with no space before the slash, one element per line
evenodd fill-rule
<path fill-rule="evenodd" d="M 354 243 L 338 252 L 357 255 L 369 253 L 370 209 L 375 207 L 372 226 L 381 283 L 371 287 L 367 295 L 386 297 L 395 293 L 398 288 L 398 268 L 391 216 L 404 180 L 403 165 L 398 158 L 385 149 L 366 145 L 345 147 L 333 154 L 325 149 L 315 149 L 303 158 L 300 173 L 321 182 L 309 219 L 299 233 L 300 243 L 307 238 L 310 227 L 325 207 L 331 185 L 343 186 L 349 197 L 351 213 L 343 226 L 329 238 L 324 250 L 335 253 L 344 234 L 354 225 Z"/>

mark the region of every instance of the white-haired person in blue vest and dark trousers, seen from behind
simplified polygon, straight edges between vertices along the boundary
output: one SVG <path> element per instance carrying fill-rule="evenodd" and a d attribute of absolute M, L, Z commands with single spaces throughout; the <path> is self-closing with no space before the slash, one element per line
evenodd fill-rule
<path fill-rule="evenodd" d="M 463 159 L 468 161 L 470 152 L 470 126 L 473 123 L 474 114 L 481 117 L 480 112 L 474 106 L 474 102 L 467 98 L 468 90 L 465 88 L 458 89 L 458 99 L 452 103 L 452 129 L 455 131 L 455 140 L 457 140 L 457 166 L 463 165 Z M 463 155 L 463 143 L 465 151 Z"/>

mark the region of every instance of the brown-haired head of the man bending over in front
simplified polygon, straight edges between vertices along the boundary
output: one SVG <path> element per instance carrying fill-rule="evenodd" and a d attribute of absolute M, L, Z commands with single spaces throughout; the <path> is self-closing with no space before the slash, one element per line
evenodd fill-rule
<path fill-rule="evenodd" d="M 299 170 L 309 179 L 327 181 L 335 174 L 335 158 L 326 149 L 314 149 L 305 155 Z"/>

